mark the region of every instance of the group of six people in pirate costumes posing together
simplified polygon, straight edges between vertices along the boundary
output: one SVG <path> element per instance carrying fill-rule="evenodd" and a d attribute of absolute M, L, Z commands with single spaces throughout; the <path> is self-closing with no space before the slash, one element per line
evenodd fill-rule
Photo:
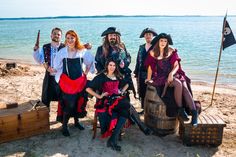
<path fill-rule="evenodd" d="M 33 56 L 46 69 L 42 102 L 50 108 L 51 101 L 58 101 L 57 121 L 62 123 L 62 134 L 70 136 L 67 126 L 70 117 L 74 118 L 76 128 L 85 129 L 79 118 L 87 114 L 88 94 L 96 98 L 94 107 L 101 137 L 110 137 L 107 147 L 121 150 L 117 142 L 127 120 L 137 124 L 144 134 L 151 134 L 130 104 L 130 91 L 137 96 L 129 68 L 131 56 L 121 42 L 121 33 L 115 27 L 107 28 L 101 35 L 103 44 L 97 48 L 95 57 L 90 52 L 91 45 L 83 45 L 74 30 L 66 32 L 64 44 L 60 42 L 61 36 L 61 29 L 54 28 L 51 43 L 41 49 L 35 46 Z M 192 113 L 192 125 L 197 126 L 198 113 L 190 79 L 181 68 L 177 50 L 169 47 L 173 44 L 170 35 L 158 35 L 154 29 L 146 28 L 140 38 L 145 38 L 146 43 L 139 47 L 134 74 L 141 107 L 144 107 L 146 84 L 152 84 L 163 101 L 176 106 L 175 116 L 188 120 L 187 107 Z M 87 80 L 89 72 L 97 75 Z"/>

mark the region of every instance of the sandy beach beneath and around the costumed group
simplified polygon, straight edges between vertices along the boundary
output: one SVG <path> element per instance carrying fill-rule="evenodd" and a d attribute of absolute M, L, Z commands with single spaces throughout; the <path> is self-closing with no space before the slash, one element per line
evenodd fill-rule
<path fill-rule="evenodd" d="M 38 65 L 18 63 L 17 68 L 6 70 L 5 63 L 13 60 L 0 60 L 0 103 L 26 102 L 40 99 L 44 68 Z M 211 101 L 212 85 L 193 82 L 194 99 L 199 100 L 203 109 Z M 223 142 L 219 147 L 192 146 L 182 144 L 178 132 L 173 135 L 158 137 L 145 136 L 136 125 L 125 130 L 121 152 L 106 147 L 107 139 L 97 137 L 92 140 L 92 120 L 95 99 L 89 100 L 87 117 L 82 119 L 84 131 L 73 127 L 70 121 L 70 137 L 64 137 L 60 130 L 61 124 L 56 123 L 57 103 L 50 108 L 50 131 L 48 133 L 25 138 L 22 140 L 0 144 L 0 156 L 17 157 L 234 157 L 236 156 L 236 88 L 217 86 L 213 106 L 204 111 L 217 114 L 226 123 Z M 132 100 L 132 104 L 140 110 L 140 103 Z M 143 116 L 141 117 L 143 119 Z"/>

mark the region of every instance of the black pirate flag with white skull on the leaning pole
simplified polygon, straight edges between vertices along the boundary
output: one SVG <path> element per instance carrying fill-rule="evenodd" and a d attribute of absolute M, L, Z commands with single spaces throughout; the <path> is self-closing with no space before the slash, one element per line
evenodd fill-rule
<path fill-rule="evenodd" d="M 225 27 L 224 27 L 224 39 L 223 39 L 223 50 L 233 44 L 236 44 L 236 40 L 234 38 L 234 34 L 229 26 L 226 18 L 224 19 Z"/>

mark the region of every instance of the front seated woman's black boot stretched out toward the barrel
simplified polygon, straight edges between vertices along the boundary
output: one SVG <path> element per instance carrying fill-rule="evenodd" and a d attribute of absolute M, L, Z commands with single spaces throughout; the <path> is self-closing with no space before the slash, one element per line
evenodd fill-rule
<path fill-rule="evenodd" d="M 138 112 L 135 110 L 135 108 L 132 105 L 130 106 L 130 117 L 138 125 L 139 129 L 145 135 L 151 134 L 152 131 L 141 121 L 141 119 L 138 115 Z"/>

